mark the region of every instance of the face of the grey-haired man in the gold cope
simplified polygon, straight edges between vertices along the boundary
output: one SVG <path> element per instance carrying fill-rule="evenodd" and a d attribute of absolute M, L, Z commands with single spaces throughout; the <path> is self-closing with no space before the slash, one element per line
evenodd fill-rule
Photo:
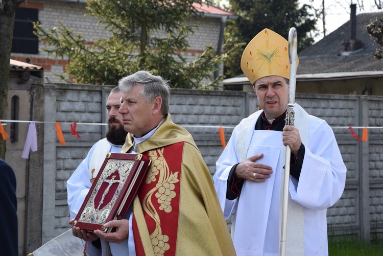
<path fill-rule="evenodd" d="M 141 137 L 157 125 L 153 113 L 155 100 L 145 102 L 141 95 L 142 88 L 142 84 L 134 85 L 129 92 L 123 94 L 118 110 L 122 114 L 125 130 L 136 137 Z"/>

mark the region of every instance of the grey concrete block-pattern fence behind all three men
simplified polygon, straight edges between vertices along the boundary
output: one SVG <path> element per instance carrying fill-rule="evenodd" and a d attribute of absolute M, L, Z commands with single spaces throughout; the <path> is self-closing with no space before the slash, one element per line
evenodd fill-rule
<path fill-rule="evenodd" d="M 67 84 L 51 86 L 55 93 L 50 101 L 55 102 L 56 109 L 52 119 L 68 123 L 106 121 L 103 106 L 110 88 Z M 327 212 L 329 235 L 357 234 L 369 237 L 370 234 L 383 234 L 381 129 L 370 129 L 369 142 L 361 143 L 351 137 L 348 129 L 348 126 L 380 125 L 383 98 L 297 94 L 296 102 L 309 114 L 324 119 L 333 127 L 348 170 L 343 196 Z M 216 171 L 215 162 L 222 153 L 218 126 L 226 127 L 227 142 L 233 127 L 257 109 L 253 93 L 238 91 L 174 89 L 170 103 L 173 121 L 192 133 L 211 174 Z M 82 136 L 79 139 L 70 135 L 69 125 L 63 125 L 64 146 L 57 141 L 56 134 L 44 138 L 55 142 L 56 154 L 53 158 L 56 159 L 55 167 L 52 170 L 44 169 L 44 172 L 53 172 L 55 177 L 54 182 L 44 179 L 44 189 L 54 193 L 54 197 L 43 199 L 45 205 L 54 205 L 54 214 L 43 216 L 43 234 L 49 234 L 45 237 L 46 241 L 68 229 L 65 182 L 90 147 L 104 136 L 105 129 L 97 125 L 78 125 L 77 131 Z M 362 137 L 362 129 L 356 129 L 356 132 Z M 53 153 L 45 153 L 44 159 L 52 159 L 50 154 Z"/>

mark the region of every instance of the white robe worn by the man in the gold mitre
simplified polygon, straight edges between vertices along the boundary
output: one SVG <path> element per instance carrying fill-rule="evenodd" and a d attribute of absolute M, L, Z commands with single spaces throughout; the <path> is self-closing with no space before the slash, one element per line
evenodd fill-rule
<path fill-rule="evenodd" d="M 296 109 L 301 108 L 296 105 L 294 110 Z M 259 117 L 260 112 L 256 115 Z M 283 164 L 278 166 L 277 159 L 280 149 L 284 146 L 281 135 L 277 135 L 278 132 L 263 131 L 276 133 L 273 135 L 279 136 L 280 146 L 270 145 L 268 141 L 264 141 L 262 142 L 264 145 L 258 143 L 258 147 L 250 149 L 254 146 L 249 145 L 250 142 L 253 144 L 254 141 L 257 141 L 253 135 L 261 134 L 258 133 L 259 131 L 254 131 L 257 120 L 254 116 L 255 114 L 248 118 L 251 120 L 252 126 L 247 134 L 242 134 L 240 131 L 243 130 L 242 126 L 249 122 L 248 119 L 244 119 L 233 130 L 224 152 L 217 161 L 217 172 L 214 174 L 213 180 L 225 218 L 235 214 L 233 220 L 235 230 L 232 236 L 237 255 L 276 256 L 279 254 L 280 243 L 276 231 L 279 227 L 279 196 L 280 189 L 283 189 L 277 182 L 280 177 L 278 173 L 282 172 Z M 342 196 L 346 167 L 333 132 L 324 120 L 309 115 L 308 129 L 302 133 L 305 132 L 307 132 L 308 142 L 304 144 L 305 155 L 302 170 L 299 182 L 290 177 L 290 195 L 292 200 L 303 206 L 305 255 L 328 255 L 326 210 Z M 227 200 L 226 189 L 229 172 L 233 165 L 241 162 L 238 155 L 243 154 L 241 153 L 243 149 L 237 148 L 238 141 L 243 141 L 242 145 L 248 145 L 244 152 L 246 158 L 263 151 L 264 160 L 274 159 L 274 163 L 268 162 L 274 172 L 271 175 L 272 178 L 267 179 L 264 183 L 246 181 L 240 197 L 235 200 Z M 258 161 L 264 161 L 262 159 Z M 257 193 L 248 193 L 247 190 L 250 187 L 257 190 Z M 261 187 L 264 188 L 263 191 Z M 270 204 L 265 202 L 267 198 L 269 198 Z M 240 218 L 246 219 L 240 220 Z M 264 242 L 258 241 L 259 237 L 265 237 Z"/>

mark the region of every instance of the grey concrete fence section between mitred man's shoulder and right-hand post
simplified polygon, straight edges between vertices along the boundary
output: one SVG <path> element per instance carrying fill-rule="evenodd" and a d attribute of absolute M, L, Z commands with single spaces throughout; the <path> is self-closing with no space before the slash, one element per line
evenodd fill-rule
<path fill-rule="evenodd" d="M 350 136 L 347 128 L 358 126 L 357 97 L 297 95 L 296 102 L 309 114 L 324 119 L 333 127 L 337 142 L 347 167 L 346 188 L 342 198 L 327 210 L 329 235 L 357 234 L 359 229 L 358 187 L 352 187 L 358 174 L 358 142 Z M 362 133 L 359 133 L 362 137 Z"/>

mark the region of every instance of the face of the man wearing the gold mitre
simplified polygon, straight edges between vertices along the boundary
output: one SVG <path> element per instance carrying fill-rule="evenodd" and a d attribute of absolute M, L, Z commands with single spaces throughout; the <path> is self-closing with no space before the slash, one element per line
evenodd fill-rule
<path fill-rule="evenodd" d="M 286 111 L 289 85 L 283 77 L 262 77 L 255 81 L 254 91 L 267 119 L 275 119 Z"/>

